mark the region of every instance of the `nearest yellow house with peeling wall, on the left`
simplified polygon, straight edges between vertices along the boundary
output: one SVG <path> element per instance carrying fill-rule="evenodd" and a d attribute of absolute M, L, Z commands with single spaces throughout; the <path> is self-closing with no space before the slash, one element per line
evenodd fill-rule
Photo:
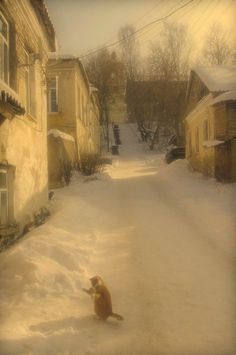
<path fill-rule="evenodd" d="M 43 0 L 0 2 L 0 244 L 48 199 L 45 69 L 55 33 Z"/>

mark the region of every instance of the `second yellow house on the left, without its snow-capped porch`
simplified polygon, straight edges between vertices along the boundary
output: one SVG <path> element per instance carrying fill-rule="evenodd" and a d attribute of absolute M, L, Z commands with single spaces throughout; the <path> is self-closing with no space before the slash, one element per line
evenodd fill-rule
<path fill-rule="evenodd" d="M 82 63 L 73 56 L 52 57 L 47 66 L 47 80 L 48 130 L 57 129 L 74 138 L 78 164 L 84 156 L 99 154 L 97 90 L 90 85 Z M 52 154 L 50 149 L 49 143 Z M 52 169 L 49 166 L 49 175 Z"/>

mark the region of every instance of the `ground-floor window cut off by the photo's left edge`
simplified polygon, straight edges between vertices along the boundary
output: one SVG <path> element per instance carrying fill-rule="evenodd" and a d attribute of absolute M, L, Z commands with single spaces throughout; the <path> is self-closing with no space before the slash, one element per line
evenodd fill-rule
<path fill-rule="evenodd" d="M 0 169 L 0 225 L 8 222 L 8 181 L 7 171 Z"/>

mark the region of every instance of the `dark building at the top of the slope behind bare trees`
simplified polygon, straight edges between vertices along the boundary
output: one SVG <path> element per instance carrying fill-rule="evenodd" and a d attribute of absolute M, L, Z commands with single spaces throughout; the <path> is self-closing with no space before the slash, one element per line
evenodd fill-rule
<path fill-rule="evenodd" d="M 181 143 L 186 88 L 186 81 L 128 81 L 128 120 L 145 124 L 148 128 L 157 125 L 167 135 L 175 133 Z"/>

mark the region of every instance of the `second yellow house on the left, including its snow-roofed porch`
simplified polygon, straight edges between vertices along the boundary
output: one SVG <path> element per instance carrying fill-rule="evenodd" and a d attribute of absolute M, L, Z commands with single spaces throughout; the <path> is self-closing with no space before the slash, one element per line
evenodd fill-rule
<path fill-rule="evenodd" d="M 47 78 L 49 183 L 55 187 L 65 182 L 70 167 L 79 165 L 85 156 L 100 153 L 100 108 L 97 90 L 77 58 L 51 58 Z M 55 130 L 56 136 L 50 134 Z M 72 139 L 64 139 L 64 133 Z"/>

